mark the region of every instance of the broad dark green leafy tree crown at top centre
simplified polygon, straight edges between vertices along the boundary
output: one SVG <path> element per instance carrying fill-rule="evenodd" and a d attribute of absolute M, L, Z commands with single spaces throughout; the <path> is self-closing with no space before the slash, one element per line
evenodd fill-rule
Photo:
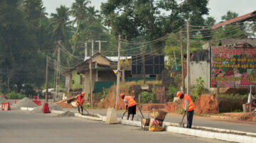
<path fill-rule="evenodd" d="M 127 40 L 138 36 L 154 40 L 173 32 L 188 19 L 191 24 L 203 23 L 207 4 L 208 0 L 184 0 L 181 4 L 173 0 L 109 0 L 102 3 L 101 12 L 114 35 L 121 34 Z"/>

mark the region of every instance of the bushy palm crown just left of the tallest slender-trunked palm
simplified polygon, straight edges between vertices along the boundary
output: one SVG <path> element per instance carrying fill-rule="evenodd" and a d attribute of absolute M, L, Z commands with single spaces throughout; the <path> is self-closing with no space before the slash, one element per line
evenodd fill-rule
<path fill-rule="evenodd" d="M 50 25 L 53 28 L 53 37 L 56 40 L 64 40 L 65 36 L 68 34 L 68 25 L 70 25 L 69 8 L 65 6 L 60 6 L 56 8 L 57 13 L 51 13 Z"/>

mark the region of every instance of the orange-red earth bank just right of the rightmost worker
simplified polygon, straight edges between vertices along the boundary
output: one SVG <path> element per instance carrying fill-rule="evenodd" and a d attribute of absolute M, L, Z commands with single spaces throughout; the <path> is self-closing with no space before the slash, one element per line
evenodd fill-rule
<path fill-rule="evenodd" d="M 209 114 L 218 113 L 218 102 L 217 96 L 215 95 L 204 95 L 199 96 L 196 101 L 195 113 L 198 114 Z"/>

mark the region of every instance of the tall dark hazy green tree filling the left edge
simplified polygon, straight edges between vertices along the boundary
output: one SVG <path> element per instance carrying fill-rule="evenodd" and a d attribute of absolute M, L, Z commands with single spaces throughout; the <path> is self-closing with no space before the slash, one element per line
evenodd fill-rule
<path fill-rule="evenodd" d="M 21 91 L 22 84 L 33 84 L 36 60 L 34 33 L 29 28 L 18 0 L 0 1 L 0 90 L 8 92 L 7 86 Z"/>

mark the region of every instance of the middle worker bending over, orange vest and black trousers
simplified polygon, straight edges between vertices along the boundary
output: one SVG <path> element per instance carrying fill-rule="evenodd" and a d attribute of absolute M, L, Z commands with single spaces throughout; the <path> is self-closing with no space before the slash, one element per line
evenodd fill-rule
<path fill-rule="evenodd" d="M 137 106 L 136 101 L 134 101 L 134 97 L 125 96 L 124 93 L 121 93 L 120 98 L 124 99 L 125 108 L 126 108 L 126 110 L 128 109 L 127 120 L 129 120 L 129 115 L 130 114 L 132 114 L 132 120 L 133 120 L 134 114 L 136 114 L 136 106 Z"/>

